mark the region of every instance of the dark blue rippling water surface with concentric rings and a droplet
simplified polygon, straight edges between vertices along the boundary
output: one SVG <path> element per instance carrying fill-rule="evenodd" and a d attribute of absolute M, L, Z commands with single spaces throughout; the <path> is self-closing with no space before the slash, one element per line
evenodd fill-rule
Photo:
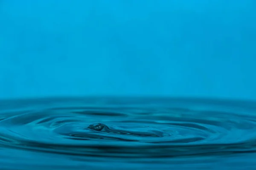
<path fill-rule="evenodd" d="M 255 170 L 256 103 L 0 101 L 1 170 Z"/>

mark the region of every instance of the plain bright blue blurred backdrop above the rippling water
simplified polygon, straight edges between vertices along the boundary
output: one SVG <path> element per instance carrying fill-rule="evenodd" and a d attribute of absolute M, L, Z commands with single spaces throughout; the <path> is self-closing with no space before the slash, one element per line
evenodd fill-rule
<path fill-rule="evenodd" d="M 255 0 L 0 0 L 0 98 L 256 99 Z"/>

